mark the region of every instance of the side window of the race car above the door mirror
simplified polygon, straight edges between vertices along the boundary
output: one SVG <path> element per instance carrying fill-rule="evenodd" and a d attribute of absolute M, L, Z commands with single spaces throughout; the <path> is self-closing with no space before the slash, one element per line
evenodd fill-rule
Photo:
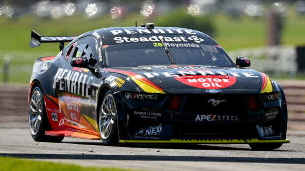
<path fill-rule="evenodd" d="M 96 44 L 97 44 L 96 40 L 93 37 L 85 37 L 85 38 L 78 40 L 78 42 L 75 43 L 75 45 L 74 45 L 74 50 L 72 50 L 73 48 L 71 49 L 71 51 L 73 53 L 72 58 L 73 57 L 87 57 L 88 60 L 90 60 L 90 58 L 93 58 L 96 60 L 96 61 L 94 61 L 94 66 L 98 67 L 99 63 L 97 62 L 98 57 L 97 57 L 97 51 L 96 51 L 96 47 L 97 47 Z M 68 51 L 67 51 L 67 53 L 68 53 Z"/>

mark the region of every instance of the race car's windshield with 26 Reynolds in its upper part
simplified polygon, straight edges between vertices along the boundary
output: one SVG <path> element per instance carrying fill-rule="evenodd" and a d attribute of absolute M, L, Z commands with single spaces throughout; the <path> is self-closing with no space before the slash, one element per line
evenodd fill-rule
<path fill-rule="evenodd" d="M 162 43 L 156 36 L 154 39 L 146 37 L 132 38 L 124 37 L 122 40 L 113 42 L 103 39 L 103 57 L 105 67 L 137 67 L 142 65 L 172 65 Z M 121 37 L 120 37 L 121 38 Z M 146 38 L 142 39 L 141 38 Z M 208 65 L 220 67 L 234 66 L 231 58 L 218 45 L 187 42 L 169 42 L 167 40 L 178 40 L 171 37 L 164 37 L 164 45 L 176 65 Z M 172 39 L 166 39 L 172 38 Z M 114 39 L 116 40 L 116 39 Z M 118 39 L 117 39 L 118 40 Z M 134 42 L 132 42 L 132 40 Z M 148 41 L 145 41 L 148 40 Z M 154 41 L 152 41 L 154 40 Z M 183 39 L 186 40 L 186 39 Z M 203 40 L 203 39 L 202 39 Z M 120 43 L 118 43 L 120 42 Z M 122 43 L 121 43 L 122 42 Z M 108 44 L 107 44 L 108 43 Z"/>

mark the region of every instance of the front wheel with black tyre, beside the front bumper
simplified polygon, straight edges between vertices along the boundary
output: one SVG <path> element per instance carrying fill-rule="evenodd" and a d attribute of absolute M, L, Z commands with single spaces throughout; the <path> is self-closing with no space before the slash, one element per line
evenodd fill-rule
<path fill-rule="evenodd" d="M 103 98 L 99 109 L 98 125 L 103 145 L 118 144 L 117 107 L 111 91 L 108 91 Z"/>

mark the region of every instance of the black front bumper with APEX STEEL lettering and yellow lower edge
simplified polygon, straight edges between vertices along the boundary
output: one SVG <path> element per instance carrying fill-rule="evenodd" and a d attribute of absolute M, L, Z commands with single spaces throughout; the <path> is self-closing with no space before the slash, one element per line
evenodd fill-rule
<path fill-rule="evenodd" d="M 226 95 L 223 99 L 230 102 L 220 103 L 217 107 L 206 104 L 210 99 L 207 95 L 201 96 L 200 100 L 197 98 L 199 95 L 183 96 L 182 103 L 174 111 L 168 109 L 174 98 L 171 95 L 164 100 L 124 99 L 122 113 L 125 115 L 119 121 L 120 142 L 196 144 L 290 142 L 285 140 L 286 126 L 283 124 L 280 100 L 266 105 L 260 101 L 259 96 L 254 96 L 257 108 L 252 110 L 248 106 L 246 95 L 234 95 L 234 100 L 230 100 L 230 96 Z"/>

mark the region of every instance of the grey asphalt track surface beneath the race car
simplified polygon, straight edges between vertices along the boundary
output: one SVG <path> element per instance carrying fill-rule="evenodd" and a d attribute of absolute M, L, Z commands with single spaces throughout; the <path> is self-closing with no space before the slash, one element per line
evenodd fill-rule
<path fill-rule="evenodd" d="M 290 144 L 272 151 L 248 145 L 101 146 L 96 140 L 65 137 L 35 142 L 27 122 L 0 122 L 0 156 L 146 171 L 304 171 L 305 132 L 288 131 Z"/>

